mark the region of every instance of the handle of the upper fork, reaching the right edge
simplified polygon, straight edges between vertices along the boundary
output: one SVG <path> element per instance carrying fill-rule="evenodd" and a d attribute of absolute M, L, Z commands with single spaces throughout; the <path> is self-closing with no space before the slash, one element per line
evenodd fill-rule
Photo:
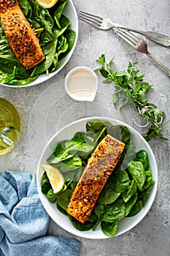
<path fill-rule="evenodd" d="M 157 42 L 159 45 L 163 45 L 166 47 L 170 46 L 170 37 L 166 36 L 165 34 L 159 34 L 157 32 L 152 32 L 152 31 L 141 31 L 141 30 L 137 30 L 137 29 L 131 29 L 131 28 L 122 26 L 120 24 L 115 24 L 115 25 L 117 26 L 117 28 L 128 29 L 128 30 L 134 31 L 138 34 L 142 34 L 147 39 Z"/>

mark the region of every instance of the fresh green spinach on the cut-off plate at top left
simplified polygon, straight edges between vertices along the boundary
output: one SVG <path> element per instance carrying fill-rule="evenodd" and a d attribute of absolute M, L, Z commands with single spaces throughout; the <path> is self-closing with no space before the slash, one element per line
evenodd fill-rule
<path fill-rule="evenodd" d="M 0 23 L 0 83 L 23 86 L 36 80 L 42 73 L 54 72 L 61 60 L 74 45 L 75 31 L 69 29 L 69 18 L 63 15 L 69 0 L 59 0 L 47 10 L 34 0 L 19 0 L 20 9 L 33 27 L 45 55 L 45 61 L 34 69 L 23 67 L 4 34 Z"/>

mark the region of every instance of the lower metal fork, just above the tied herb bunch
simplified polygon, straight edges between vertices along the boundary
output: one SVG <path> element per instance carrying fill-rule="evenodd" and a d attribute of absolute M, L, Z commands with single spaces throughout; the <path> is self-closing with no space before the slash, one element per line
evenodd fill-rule
<path fill-rule="evenodd" d="M 134 49 L 138 50 L 139 53 L 145 53 L 148 57 L 150 57 L 150 59 L 155 61 L 159 66 L 166 70 L 170 76 L 170 69 L 158 61 L 158 59 L 156 59 L 154 56 L 152 56 L 151 53 L 149 53 L 147 50 L 147 43 L 144 41 L 144 39 L 139 37 L 133 31 L 128 31 L 125 29 L 117 29 L 116 34 L 128 42 L 128 44 L 131 45 Z"/>

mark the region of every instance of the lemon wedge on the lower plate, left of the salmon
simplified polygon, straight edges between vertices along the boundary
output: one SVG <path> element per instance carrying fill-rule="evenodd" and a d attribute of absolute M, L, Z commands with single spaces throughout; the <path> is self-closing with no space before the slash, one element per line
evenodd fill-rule
<path fill-rule="evenodd" d="M 56 194 L 61 191 L 64 185 L 63 174 L 58 168 L 53 165 L 43 164 L 47 177 L 49 178 L 51 187 L 53 188 L 53 193 Z"/>

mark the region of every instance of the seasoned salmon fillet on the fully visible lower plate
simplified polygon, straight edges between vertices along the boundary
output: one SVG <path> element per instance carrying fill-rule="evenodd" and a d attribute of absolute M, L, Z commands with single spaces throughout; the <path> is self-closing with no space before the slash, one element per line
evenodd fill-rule
<path fill-rule="evenodd" d="M 90 217 L 98 196 L 119 161 L 125 144 L 107 135 L 96 147 L 74 189 L 66 211 L 84 223 Z"/>

